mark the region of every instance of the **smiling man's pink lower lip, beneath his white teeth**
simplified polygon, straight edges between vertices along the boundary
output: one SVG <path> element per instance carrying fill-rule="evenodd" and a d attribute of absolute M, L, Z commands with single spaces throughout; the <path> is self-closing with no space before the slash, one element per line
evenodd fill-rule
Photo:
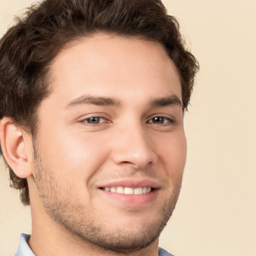
<path fill-rule="evenodd" d="M 100 188 L 99 191 L 110 200 L 114 200 L 127 206 L 139 207 L 152 202 L 156 197 L 158 189 L 154 189 L 145 194 L 122 194 L 105 191 Z"/>

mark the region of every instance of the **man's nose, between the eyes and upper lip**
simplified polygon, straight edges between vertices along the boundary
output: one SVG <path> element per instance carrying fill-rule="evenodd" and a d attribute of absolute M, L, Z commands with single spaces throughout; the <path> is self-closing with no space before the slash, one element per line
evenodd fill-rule
<path fill-rule="evenodd" d="M 139 169 L 157 161 L 152 141 L 141 125 L 128 125 L 115 135 L 111 157 L 115 164 L 130 164 Z"/>

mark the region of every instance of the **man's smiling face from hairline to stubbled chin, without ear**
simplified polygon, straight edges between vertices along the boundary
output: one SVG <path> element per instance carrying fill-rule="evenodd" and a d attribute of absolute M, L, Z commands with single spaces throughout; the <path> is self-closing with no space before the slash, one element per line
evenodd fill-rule
<path fill-rule="evenodd" d="M 33 163 L 46 215 L 103 249 L 155 241 L 174 209 L 186 156 L 181 85 L 156 42 L 97 34 L 52 63 Z"/>

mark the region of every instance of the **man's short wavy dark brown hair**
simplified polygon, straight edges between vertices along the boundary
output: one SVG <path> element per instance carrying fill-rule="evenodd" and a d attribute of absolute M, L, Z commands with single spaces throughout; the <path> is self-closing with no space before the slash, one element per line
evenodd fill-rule
<path fill-rule="evenodd" d="M 160 42 L 179 72 L 187 108 L 198 62 L 160 0 L 44 0 L 16 18 L 0 39 L 0 119 L 12 118 L 33 137 L 38 105 L 50 93 L 52 60 L 67 42 L 96 32 Z M 10 186 L 28 205 L 26 179 L 8 168 Z"/>

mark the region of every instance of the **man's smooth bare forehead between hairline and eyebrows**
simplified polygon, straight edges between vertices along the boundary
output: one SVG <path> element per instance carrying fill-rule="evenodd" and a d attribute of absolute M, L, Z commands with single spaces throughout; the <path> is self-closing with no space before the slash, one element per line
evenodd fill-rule
<path fill-rule="evenodd" d="M 82 94 L 136 97 L 173 93 L 181 100 L 177 69 L 155 41 L 96 34 L 72 41 L 55 57 L 53 92 L 70 100 Z M 136 93 L 134 92 L 136 90 Z"/>

